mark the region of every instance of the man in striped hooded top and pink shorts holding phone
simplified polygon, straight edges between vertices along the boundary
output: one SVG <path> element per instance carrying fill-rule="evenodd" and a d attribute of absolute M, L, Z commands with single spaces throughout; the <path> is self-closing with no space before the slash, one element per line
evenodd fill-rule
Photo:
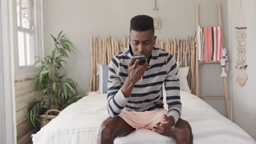
<path fill-rule="evenodd" d="M 147 128 L 176 139 L 193 143 L 188 122 L 181 116 L 178 67 L 175 58 L 154 47 L 153 18 L 138 15 L 130 21 L 130 46 L 112 58 L 109 64 L 108 113 L 98 135 L 98 143 L 113 143 L 115 137 Z M 132 64 L 131 57 L 141 54 L 143 65 Z M 164 109 L 162 84 L 165 85 L 168 111 Z"/>

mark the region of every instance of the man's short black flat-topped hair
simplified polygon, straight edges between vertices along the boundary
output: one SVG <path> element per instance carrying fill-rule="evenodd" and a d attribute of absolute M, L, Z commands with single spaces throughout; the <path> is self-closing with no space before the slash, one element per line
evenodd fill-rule
<path fill-rule="evenodd" d="M 151 29 L 153 33 L 155 32 L 154 29 L 154 19 L 148 15 L 137 15 L 132 17 L 130 21 L 130 32 L 131 30 L 137 32 L 144 32 Z"/>

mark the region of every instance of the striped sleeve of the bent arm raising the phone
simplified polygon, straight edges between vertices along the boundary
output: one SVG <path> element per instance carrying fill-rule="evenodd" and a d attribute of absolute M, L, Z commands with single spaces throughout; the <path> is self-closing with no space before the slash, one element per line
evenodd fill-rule
<path fill-rule="evenodd" d="M 129 98 L 125 98 L 121 87 L 123 82 L 119 77 L 119 65 L 117 58 L 112 58 L 108 67 L 108 114 L 110 117 L 117 117 L 119 113 L 124 109 Z"/>

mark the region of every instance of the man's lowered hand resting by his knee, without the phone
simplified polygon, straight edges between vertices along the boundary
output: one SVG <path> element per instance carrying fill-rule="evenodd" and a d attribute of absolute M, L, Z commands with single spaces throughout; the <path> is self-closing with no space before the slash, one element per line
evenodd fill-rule
<path fill-rule="evenodd" d="M 152 130 L 161 135 L 170 135 L 174 123 L 173 116 L 162 115 L 160 123 L 156 124 Z"/>

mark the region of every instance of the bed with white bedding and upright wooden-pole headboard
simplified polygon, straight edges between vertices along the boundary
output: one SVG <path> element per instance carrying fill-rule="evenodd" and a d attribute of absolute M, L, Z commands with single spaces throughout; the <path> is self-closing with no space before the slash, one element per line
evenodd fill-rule
<path fill-rule="evenodd" d="M 96 73 L 96 63 L 101 65 L 108 65 L 110 59 L 118 52 L 122 51 L 118 47 L 118 41 L 112 37 L 103 40 L 105 44 L 101 45 L 100 40 L 90 38 L 91 46 L 91 81 L 90 92 L 88 96 L 80 99 L 74 104 L 69 105 L 62 110 L 56 118 L 50 121 L 38 133 L 32 135 L 34 144 L 70 144 L 70 143 L 97 143 L 98 130 L 101 123 L 108 117 L 107 112 L 107 94 L 104 94 L 103 89 L 106 88 L 108 79 L 103 79 L 103 74 L 107 74 L 103 67 L 98 67 Z M 125 36 L 123 38 L 124 44 Z M 110 44 L 113 41 L 117 45 Z M 181 101 L 182 101 L 182 116 L 181 118 L 189 122 L 194 135 L 194 143 L 256 143 L 251 136 L 249 136 L 238 125 L 232 123 L 228 118 L 220 115 L 210 105 L 205 103 L 199 97 L 194 95 L 195 83 L 195 44 L 193 37 L 191 43 L 189 38 L 187 40 L 169 40 L 163 46 L 162 41 L 157 40 L 156 46 L 161 46 L 162 49 L 171 53 L 179 62 L 179 80 L 181 82 Z M 98 43 L 99 44 L 96 44 Z M 115 47 L 115 46 L 117 47 Z M 191 47 L 190 47 L 191 45 Z M 107 46 L 107 47 L 106 47 Z M 110 47 L 108 47 L 110 46 Z M 114 47 L 113 47 L 114 46 Z M 100 52 L 97 52 L 100 51 Z M 103 55 L 104 53 L 104 55 Z M 111 54 L 111 55 L 110 55 Z M 96 63 L 95 63 L 96 62 Z M 106 70 L 108 70 L 106 68 Z M 97 75 L 98 74 L 98 75 Z M 108 76 L 107 76 L 108 77 Z M 106 78 L 106 77 L 105 77 Z M 104 81 L 105 80 L 105 81 Z M 105 84 L 103 84 L 105 83 Z M 103 87 L 105 86 L 105 87 Z M 164 88 L 163 88 L 164 89 Z M 190 91 L 191 89 L 191 91 Z M 103 94 L 102 94 L 103 93 Z M 166 93 L 164 94 L 164 103 Z M 165 109 L 167 105 L 165 104 Z M 135 144 L 135 143 L 176 143 L 172 137 L 162 136 L 152 130 L 138 129 L 125 137 L 117 137 L 114 140 L 115 144 Z"/>

